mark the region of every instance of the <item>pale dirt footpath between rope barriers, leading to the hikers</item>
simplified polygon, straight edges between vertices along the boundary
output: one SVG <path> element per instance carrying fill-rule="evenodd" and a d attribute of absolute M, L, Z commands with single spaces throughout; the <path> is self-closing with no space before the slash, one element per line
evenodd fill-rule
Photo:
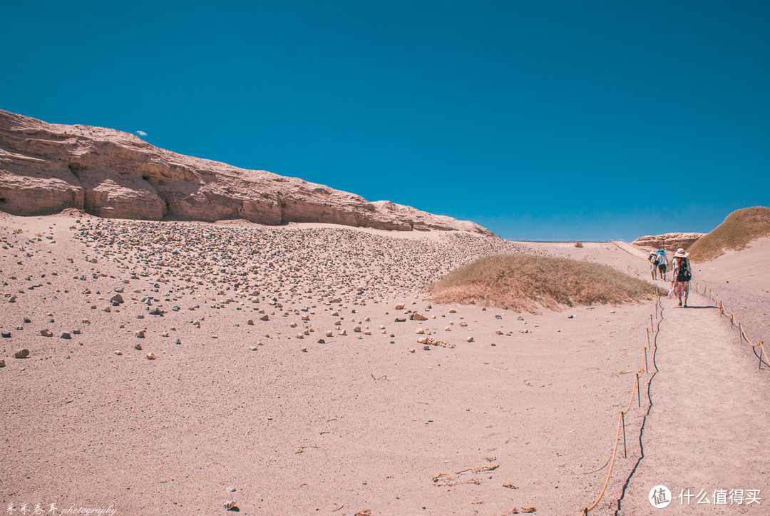
<path fill-rule="evenodd" d="M 658 485 L 671 491 L 661 514 L 767 514 L 767 373 L 703 297 L 691 295 L 690 305 L 662 300 L 644 458 L 619 514 L 656 512 L 648 495 Z M 749 490 L 761 490 L 761 504 L 749 504 Z"/>

